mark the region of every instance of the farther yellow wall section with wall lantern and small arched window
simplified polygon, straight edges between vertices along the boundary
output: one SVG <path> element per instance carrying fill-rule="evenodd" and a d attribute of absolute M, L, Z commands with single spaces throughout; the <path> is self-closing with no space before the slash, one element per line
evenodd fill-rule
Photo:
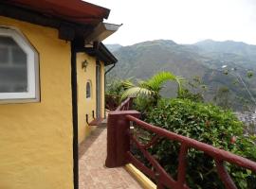
<path fill-rule="evenodd" d="M 82 61 L 87 60 L 86 71 L 82 69 Z M 81 143 L 93 126 L 88 126 L 85 115 L 88 114 L 88 122 L 93 120 L 92 111 L 96 116 L 96 58 L 85 53 L 77 54 L 77 75 L 78 75 L 78 123 L 79 123 L 79 142 Z M 91 81 L 90 98 L 86 98 L 86 82 Z M 104 117 L 104 64 L 101 62 L 101 117 Z"/>

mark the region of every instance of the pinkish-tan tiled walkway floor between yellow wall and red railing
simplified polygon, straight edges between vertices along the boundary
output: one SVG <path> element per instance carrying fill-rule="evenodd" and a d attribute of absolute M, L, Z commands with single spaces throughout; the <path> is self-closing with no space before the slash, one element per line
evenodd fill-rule
<path fill-rule="evenodd" d="M 106 168 L 105 128 L 95 129 L 80 146 L 80 189 L 141 189 L 123 168 Z"/>

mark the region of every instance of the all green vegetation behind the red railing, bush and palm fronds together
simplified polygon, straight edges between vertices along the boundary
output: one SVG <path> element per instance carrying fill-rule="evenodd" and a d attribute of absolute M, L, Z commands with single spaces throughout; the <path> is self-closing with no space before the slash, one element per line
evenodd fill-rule
<path fill-rule="evenodd" d="M 178 83 L 175 97 L 166 98 L 160 94 L 168 80 Z M 192 81 L 187 80 L 187 86 L 196 88 L 193 91 L 184 87 L 184 82 L 181 85 L 181 81 L 184 81 L 182 77 L 176 77 L 169 72 L 160 72 L 137 84 L 131 80 L 116 81 L 111 90 L 112 93 L 117 92 L 122 98 L 136 97 L 136 109 L 143 113 L 142 119 L 150 124 L 256 161 L 256 136 L 246 136 L 242 122 L 229 111 L 229 90 L 223 89 L 216 97 L 218 100 L 216 103 L 222 105 L 226 109 L 224 110 L 204 102 L 203 94 L 207 87 L 198 77 L 194 77 Z M 142 129 L 137 129 L 135 133 L 143 142 L 149 141 L 154 136 L 153 133 Z M 177 174 L 179 147 L 180 144 L 176 142 L 162 139 L 156 146 L 149 149 L 156 160 L 174 178 Z M 147 166 L 150 166 L 137 150 L 134 149 L 134 152 Z M 229 163 L 226 163 L 226 167 L 239 188 L 256 188 L 255 173 Z M 195 149 L 190 149 L 188 153 L 186 179 L 191 188 L 224 188 L 218 178 L 214 161 Z"/>

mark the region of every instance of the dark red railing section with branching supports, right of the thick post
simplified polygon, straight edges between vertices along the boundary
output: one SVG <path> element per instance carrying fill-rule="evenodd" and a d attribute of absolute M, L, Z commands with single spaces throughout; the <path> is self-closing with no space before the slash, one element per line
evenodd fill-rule
<path fill-rule="evenodd" d="M 157 188 L 164 188 L 164 186 L 177 189 L 187 189 L 186 185 L 186 156 L 189 148 L 196 148 L 208 154 L 213 158 L 216 164 L 216 170 L 220 179 L 224 182 L 226 188 L 236 189 L 233 180 L 230 178 L 228 171 L 224 166 L 224 162 L 233 163 L 238 166 L 247 168 L 256 172 L 256 163 L 241 156 L 230 153 L 214 146 L 201 143 L 191 138 L 176 134 L 167 129 L 161 129 L 151 124 L 143 122 L 132 115 L 126 115 L 129 121 L 135 122 L 138 127 L 146 130 L 150 130 L 156 134 L 156 136 L 146 145 L 142 145 L 137 141 L 137 138 L 131 134 L 130 138 L 132 142 L 142 152 L 144 157 L 153 165 L 155 172 L 147 168 L 143 163 L 140 163 L 131 152 L 127 152 L 127 158 L 131 163 L 134 163 L 138 169 L 144 172 L 146 175 L 158 181 Z M 177 180 L 174 180 L 161 166 L 155 158 L 147 151 L 147 148 L 155 145 L 159 137 L 164 137 L 169 140 L 177 141 L 181 143 L 180 152 L 178 156 L 178 175 Z"/>

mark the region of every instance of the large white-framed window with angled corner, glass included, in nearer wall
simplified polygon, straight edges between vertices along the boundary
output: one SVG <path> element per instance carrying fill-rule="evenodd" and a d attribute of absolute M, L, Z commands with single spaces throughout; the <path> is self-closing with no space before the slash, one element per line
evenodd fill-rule
<path fill-rule="evenodd" d="M 0 103 L 39 101 L 38 54 L 18 30 L 0 26 Z"/>

